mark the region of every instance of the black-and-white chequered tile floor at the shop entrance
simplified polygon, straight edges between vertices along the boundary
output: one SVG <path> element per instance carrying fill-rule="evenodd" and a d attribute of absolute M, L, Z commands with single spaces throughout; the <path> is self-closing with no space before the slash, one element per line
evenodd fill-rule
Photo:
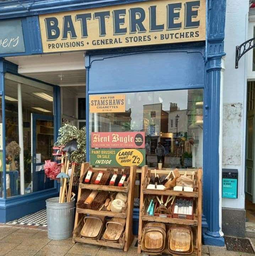
<path fill-rule="evenodd" d="M 7 225 L 27 225 L 27 226 L 43 226 L 47 227 L 47 212 L 46 209 L 39 212 L 26 215 L 20 219 L 12 220 L 6 223 Z"/>

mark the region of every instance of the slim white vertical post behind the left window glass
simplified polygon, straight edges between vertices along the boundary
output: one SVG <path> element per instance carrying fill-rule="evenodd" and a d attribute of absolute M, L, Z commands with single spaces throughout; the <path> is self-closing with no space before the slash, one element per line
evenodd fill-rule
<path fill-rule="evenodd" d="M 22 95 L 21 95 L 20 83 L 18 83 L 18 141 L 20 145 L 20 193 L 23 195 L 25 194 L 25 176 L 24 176 Z"/>

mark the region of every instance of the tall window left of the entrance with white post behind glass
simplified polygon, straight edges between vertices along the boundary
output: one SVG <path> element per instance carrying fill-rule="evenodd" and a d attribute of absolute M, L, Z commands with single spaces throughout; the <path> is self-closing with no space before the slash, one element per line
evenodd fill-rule
<path fill-rule="evenodd" d="M 22 106 L 23 129 L 19 106 Z M 21 84 L 19 89 L 17 82 L 5 79 L 7 197 L 54 187 L 54 181 L 44 174 L 44 161 L 53 158 L 53 115 L 53 87 Z M 23 132 L 23 160 L 20 132 Z"/>

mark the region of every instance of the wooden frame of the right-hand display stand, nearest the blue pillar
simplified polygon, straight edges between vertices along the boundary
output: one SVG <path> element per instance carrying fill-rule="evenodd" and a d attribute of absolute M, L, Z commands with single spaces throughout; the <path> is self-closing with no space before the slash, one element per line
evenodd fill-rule
<path fill-rule="evenodd" d="M 187 173 L 189 171 L 194 171 L 194 169 L 186 169 Z M 137 252 L 141 254 L 141 240 L 142 240 L 142 229 L 146 222 L 162 222 L 166 225 L 169 224 L 183 224 L 189 225 L 193 231 L 193 246 L 194 250 L 191 255 L 201 256 L 201 237 L 202 237 L 202 169 L 199 168 L 197 171 L 197 192 L 184 192 L 184 191 L 173 191 L 173 190 L 151 190 L 147 189 L 148 177 L 151 176 L 150 170 L 147 166 L 142 167 L 141 175 L 141 196 L 140 196 L 140 214 L 139 214 L 139 235 L 138 235 L 138 249 Z M 160 173 L 168 173 L 167 171 L 161 171 Z M 180 171 L 180 174 L 183 174 L 183 171 Z M 194 208 L 194 219 L 175 219 L 175 218 L 164 218 L 150 216 L 146 214 L 147 205 L 145 197 L 146 195 L 170 195 L 170 196 L 180 196 L 180 197 L 192 197 L 194 198 L 195 208 Z M 167 243 L 166 243 L 167 244 Z M 164 254 L 170 254 L 167 246 L 163 252 Z"/>

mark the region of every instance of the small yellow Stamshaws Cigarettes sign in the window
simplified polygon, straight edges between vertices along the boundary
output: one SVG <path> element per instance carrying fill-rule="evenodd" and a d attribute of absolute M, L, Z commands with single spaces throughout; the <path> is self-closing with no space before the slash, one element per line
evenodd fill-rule
<path fill-rule="evenodd" d="M 89 96 L 90 113 L 125 112 L 125 94 Z"/>

